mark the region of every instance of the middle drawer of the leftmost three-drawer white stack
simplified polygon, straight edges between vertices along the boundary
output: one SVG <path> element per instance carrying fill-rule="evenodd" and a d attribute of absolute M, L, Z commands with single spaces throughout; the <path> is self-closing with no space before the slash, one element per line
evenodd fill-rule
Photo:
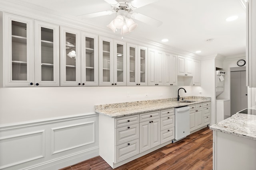
<path fill-rule="evenodd" d="M 140 124 L 133 124 L 116 129 L 116 145 L 138 139 L 140 137 Z"/>

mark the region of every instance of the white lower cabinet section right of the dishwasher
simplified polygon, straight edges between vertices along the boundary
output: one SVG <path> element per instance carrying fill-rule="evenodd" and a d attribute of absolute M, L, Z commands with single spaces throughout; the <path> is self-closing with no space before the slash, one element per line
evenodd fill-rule
<path fill-rule="evenodd" d="M 210 102 L 190 106 L 190 132 L 210 124 Z"/>

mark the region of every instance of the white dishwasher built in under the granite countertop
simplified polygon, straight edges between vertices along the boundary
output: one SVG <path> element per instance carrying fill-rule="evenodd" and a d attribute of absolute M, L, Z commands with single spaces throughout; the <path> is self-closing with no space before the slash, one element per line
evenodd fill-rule
<path fill-rule="evenodd" d="M 176 142 L 190 135 L 189 106 L 176 107 L 175 110 L 175 139 Z"/>

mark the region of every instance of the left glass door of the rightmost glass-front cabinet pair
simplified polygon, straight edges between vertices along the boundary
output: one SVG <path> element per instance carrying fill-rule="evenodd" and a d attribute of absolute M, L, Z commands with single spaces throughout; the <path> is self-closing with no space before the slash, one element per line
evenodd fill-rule
<path fill-rule="evenodd" d="M 128 50 L 128 79 L 127 79 L 127 84 L 128 85 L 138 85 L 139 83 L 137 82 L 137 60 L 138 60 L 138 55 L 137 55 L 137 46 L 132 45 L 132 44 L 127 44 L 127 50 Z"/>

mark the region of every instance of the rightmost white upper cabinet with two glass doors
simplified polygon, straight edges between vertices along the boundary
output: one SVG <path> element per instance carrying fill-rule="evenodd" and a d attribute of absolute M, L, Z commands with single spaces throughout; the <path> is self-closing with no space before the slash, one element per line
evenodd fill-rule
<path fill-rule="evenodd" d="M 127 43 L 127 86 L 147 85 L 147 48 Z"/>

